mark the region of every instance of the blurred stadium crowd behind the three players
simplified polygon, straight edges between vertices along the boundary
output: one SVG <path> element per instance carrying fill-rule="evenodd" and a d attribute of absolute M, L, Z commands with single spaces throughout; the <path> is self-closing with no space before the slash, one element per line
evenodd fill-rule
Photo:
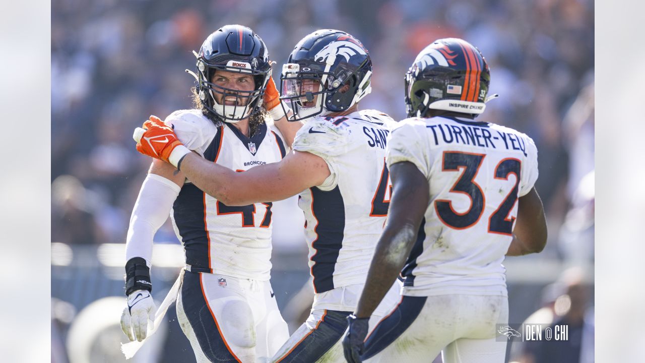
<path fill-rule="evenodd" d="M 585 329 L 593 326 L 593 19 L 592 0 L 52 1 L 52 361 L 123 359 L 113 343 L 124 338 L 113 326 L 121 307 L 114 307 L 117 320 L 106 322 L 113 335 L 88 338 L 87 348 L 70 337 L 83 331 L 75 324 L 84 309 L 99 302 L 117 306 L 99 299 L 123 296 L 128 221 L 150 165 L 135 151 L 132 130 L 150 114 L 163 119 L 192 107 L 194 83 L 184 72 L 195 67 L 191 51 L 226 24 L 249 26 L 262 37 L 277 62 L 275 79 L 306 34 L 349 32 L 373 63 L 372 94 L 361 108 L 394 119 L 405 117 L 403 75 L 422 48 L 440 37 L 462 37 L 478 47 L 490 65 L 490 92 L 500 95 L 478 120 L 535 140 L 536 188 L 549 225 L 544 252 L 506 261 L 510 322 L 546 308 L 551 315 L 541 317 L 544 324 L 569 316 Z M 282 287 L 278 302 L 295 327 L 301 314 L 294 311 L 310 304 L 302 297 L 309 292 L 302 216 L 293 200 L 279 208 L 284 217 L 274 224 L 272 283 Z M 165 248 L 155 249 L 159 267 L 153 268 L 155 298 L 161 299 L 183 256 L 177 260 L 181 247 L 170 223 L 155 242 Z M 141 361 L 194 359 L 187 341 L 172 353 L 183 336 L 172 314 L 169 319 L 167 336 L 177 339 L 160 345 L 165 354 Z M 511 347 L 508 360 L 560 361 L 541 360 L 546 353 L 536 349 Z"/>

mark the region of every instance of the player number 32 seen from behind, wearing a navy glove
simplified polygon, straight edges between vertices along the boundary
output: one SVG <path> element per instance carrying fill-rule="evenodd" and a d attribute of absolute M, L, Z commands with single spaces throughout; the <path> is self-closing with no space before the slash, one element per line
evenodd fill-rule
<path fill-rule="evenodd" d="M 439 39 L 405 78 L 408 119 L 392 130 L 387 225 L 343 338 L 349 362 L 504 362 L 496 324 L 508 324 L 504 255 L 546 244 L 533 187 L 537 149 L 508 127 L 475 121 L 490 72 L 462 39 Z M 401 273 L 399 305 L 372 333 L 368 318 Z M 363 346 L 364 344 L 364 346 Z"/>

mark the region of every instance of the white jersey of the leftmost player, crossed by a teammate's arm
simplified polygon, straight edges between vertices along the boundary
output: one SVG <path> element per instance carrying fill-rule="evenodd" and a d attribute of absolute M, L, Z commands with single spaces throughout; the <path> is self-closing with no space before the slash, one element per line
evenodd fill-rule
<path fill-rule="evenodd" d="M 229 123 L 215 125 L 199 110 L 175 111 L 166 123 L 179 140 L 206 160 L 233 171 L 280 161 L 281 135 L 266 124 L 246 138 Z M 186 264 L 210 273 L 269 280 L 272 203 L 230 207 L 186 180 L 171 211 Z"/>

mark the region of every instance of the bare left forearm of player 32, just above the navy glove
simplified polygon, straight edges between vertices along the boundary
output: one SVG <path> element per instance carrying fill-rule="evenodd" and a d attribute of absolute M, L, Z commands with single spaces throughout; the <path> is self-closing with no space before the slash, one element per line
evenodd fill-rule
<path fill-rule="evenodd" d="M 418 226 L 417 226 L 418 228 Z M 386 228 L 376 246 L 367 281 L 355 315 L 368 318 L 399 276 L 415 240 L 417 229 L 407 223 L 398 231 Z"/>

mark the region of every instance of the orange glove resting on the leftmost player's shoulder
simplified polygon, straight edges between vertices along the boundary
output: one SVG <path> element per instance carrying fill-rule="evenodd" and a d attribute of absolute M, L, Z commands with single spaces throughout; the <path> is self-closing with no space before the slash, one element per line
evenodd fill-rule
<path fill-rule="evenodd" d="M 172 127 L 163 123 L 157 116 L 150 116 L 150 119 L 143 123 L 143 129 L 137 127 L 132 138 L 137 141 L 137 151 L 141 154 L 172 163 L 175 167 L 178 161 L 190 152 L 177 140 Z"/>

